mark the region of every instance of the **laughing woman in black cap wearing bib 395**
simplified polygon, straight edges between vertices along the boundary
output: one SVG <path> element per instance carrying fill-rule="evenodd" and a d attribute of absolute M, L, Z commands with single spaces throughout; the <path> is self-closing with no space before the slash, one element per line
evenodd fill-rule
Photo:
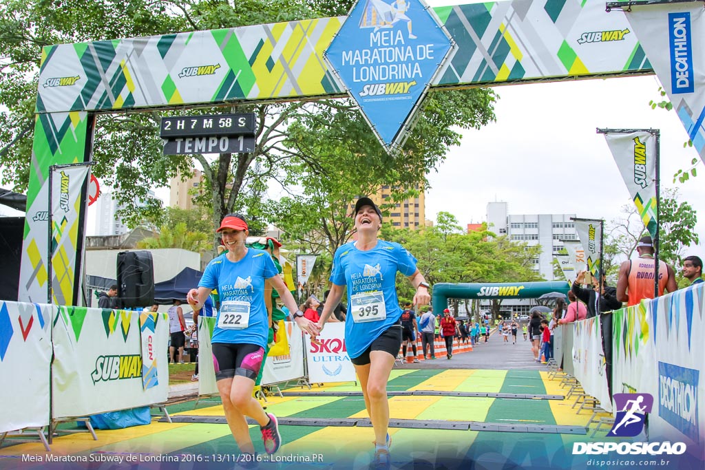
<path fill-rule="evenodd" d="M 429 285 L 416 267 L 416 259 L 398 243 L 377 238 L 382 214 L 368 197 L 355 204 L 357 242 L 336 250 L 331 272 L 331 292 L 318 322 L 320 330 L 348 288 L 345 347 L 360 378 L 364 404 L 374 428 L 374 467 L 391 465 L 387 433 L 389 402 L 387 382 L 401 345 L 402 311 L 396 293 L 396 273 L 415 287 L 413 302 L 427 304 Z"/>

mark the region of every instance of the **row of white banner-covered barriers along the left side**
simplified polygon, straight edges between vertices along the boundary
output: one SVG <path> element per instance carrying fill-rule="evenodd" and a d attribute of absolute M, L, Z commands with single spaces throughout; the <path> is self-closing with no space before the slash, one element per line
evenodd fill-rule
<path fill-rule="evenodd" d="M 0 433 L 166 401 L 167 344 L 166 314 L 0 302 Z"/>

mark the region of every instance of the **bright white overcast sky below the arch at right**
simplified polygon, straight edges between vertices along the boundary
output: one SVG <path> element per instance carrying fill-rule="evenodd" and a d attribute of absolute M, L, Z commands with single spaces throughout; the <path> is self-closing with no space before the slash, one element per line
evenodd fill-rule
<path fill-rule="evenodd" d="M 426 216 L 448 211 L 462 225 L 486 220 L 487 202 L 508 203 L 509 214 L 620 216 L 633 204 L 604 136 L 596 128 L 661 130 L 661 187 L 679 187 L 705 228 L 705 168 L 685 184 L 673 173 L 697 157 L 683 148 L 687 134 L 674 111 L 651 110 L 660 99 L 654 76 L 495 87 L 496 123 L 462 131 L 462 144 L 429 175 Z M 701 239 L 703 237 L 701 236 Z M 701 240 L 694 253 L 705 258 Z"/>

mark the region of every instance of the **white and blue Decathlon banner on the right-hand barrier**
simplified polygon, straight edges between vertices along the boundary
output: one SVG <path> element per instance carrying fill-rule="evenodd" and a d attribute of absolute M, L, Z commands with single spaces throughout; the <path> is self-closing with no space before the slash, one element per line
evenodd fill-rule
<path fill-rule="evenodd" d="M 684 442 L 704 459 L 705 283 L 649 301 L 648 322 L 654 358 L 644 392 L 654 395 L 656 408 L 649 435 Z"/>

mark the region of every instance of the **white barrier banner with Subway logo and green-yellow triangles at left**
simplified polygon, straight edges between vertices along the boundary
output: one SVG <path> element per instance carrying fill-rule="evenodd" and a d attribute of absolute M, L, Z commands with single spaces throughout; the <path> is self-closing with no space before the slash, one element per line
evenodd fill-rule
<path fill-rule="evenodd" d="M 59 307 L 54 318 L 52 390 L 54 418 L 142 407 L 164 402 L 168 367 L 157 360 L 159 383 L 142 384 L 139 312 Z M 154 327 L 157 358 L 167 350 L 168 316 Z"/>

